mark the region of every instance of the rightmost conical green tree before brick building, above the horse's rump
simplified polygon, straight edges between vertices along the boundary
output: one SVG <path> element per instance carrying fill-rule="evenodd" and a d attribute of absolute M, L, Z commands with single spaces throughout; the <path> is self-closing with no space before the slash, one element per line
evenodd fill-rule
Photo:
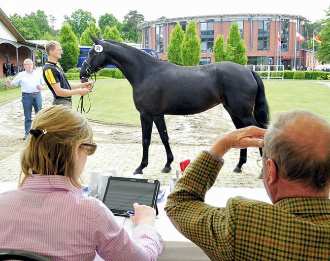
<path fill-rule="evenodd" d="M 226 41 L 227 60 L 246 65 L 246 46 L 238 28 L 238 23 L 233 22 L 229 29 L 229 36 Z"/>

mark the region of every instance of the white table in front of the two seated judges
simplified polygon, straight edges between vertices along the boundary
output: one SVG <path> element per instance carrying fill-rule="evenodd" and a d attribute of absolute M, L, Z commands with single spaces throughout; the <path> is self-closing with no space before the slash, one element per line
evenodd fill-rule
<path fill-rule="evenodd" d="M 6 190 L 15 189 L 17 183 L 0 183 L 0 193 Z M 164 239 L 165 246 L 160 254 L 159 261 L 204 261 L 210 260 L 207 255 L 190 240 L 182 236 L 173 226 L 170 219 L 167 217 L 166 212 L 164 212 L 164 206 L 166 204 L 166 199 L 169 194 L 169 187 L 166 188 L 166 193 L 164 197 L 157 202 L 158 206 L 158 218 L 156 219 L 156 229 L 159 234 Z M 271 203 L 268 198 L 266 189 L 263 188 L 211 188 L 205 198 L 205 202 L 222 207 L 226 205 L 229 198 L 235 197 L 237 195 L 242 195 L 243 197 L 255 200 L 261 200 Z M 125 218 L 124 227 L 129 232 L 132 233 L 135 224 L 129 219 Z M 103 259 L 96 254 L 94 261 L 102 261 Z"/>

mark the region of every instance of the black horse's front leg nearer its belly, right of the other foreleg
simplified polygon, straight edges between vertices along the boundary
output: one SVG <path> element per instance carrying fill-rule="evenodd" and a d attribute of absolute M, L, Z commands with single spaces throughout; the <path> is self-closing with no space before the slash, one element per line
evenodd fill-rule
<path fill-rule="evenodd" d="M 155 122 L 155 125 L 158 129 L 158 133 L 159 133 L 161 142 L 165 147 L 166 155 L 167 155 L 166 165 L 164 166 L 164 168 L 162 168 L 161 172 L 169 173 L 172 170 L 171 163 L 173 162 L 174 157 L 173 157 L 173 153 L 172 153 L 170 143 L 169 143 L 169 135 L 168 135 L 168 131 L 166 128 L 166 122 L 165 122 L 164 115 L 155 116 L 153 121 Z"/>

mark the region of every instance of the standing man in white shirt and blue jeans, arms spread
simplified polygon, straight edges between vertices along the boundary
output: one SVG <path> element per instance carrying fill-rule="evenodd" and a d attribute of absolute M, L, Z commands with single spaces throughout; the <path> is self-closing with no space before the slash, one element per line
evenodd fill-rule
<path fill-rule="evenodd" d="M 37 114 L 42 109 L 41 90 L 45 87 L 45 82 L 40 73 L 33 69 L 33 61 L 25 59 L 25 71 L 20 72 L 12 81 L 7 78 L 6 82 L 10 87 L 21 85 L 22 104 L 24 111 L 24 127 L 25 135 L 23 140 L 26 140 L 32 123 L 32 107 Z"/>

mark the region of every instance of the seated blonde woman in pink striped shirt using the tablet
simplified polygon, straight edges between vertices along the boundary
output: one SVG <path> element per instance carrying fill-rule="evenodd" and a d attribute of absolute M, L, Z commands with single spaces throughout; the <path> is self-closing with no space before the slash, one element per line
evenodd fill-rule
<path fill-rule="evenodd" d="M 80 176 L 97 146 L 86 118 L 68 106 L 41 110 L 21 154 L 19 186 L 0 194 L 0 250 L 51 260 L 157 260 L 164 241 L 154 208 L 134 204 L 130 237 L 100 200 L 83 195 Z"/>

